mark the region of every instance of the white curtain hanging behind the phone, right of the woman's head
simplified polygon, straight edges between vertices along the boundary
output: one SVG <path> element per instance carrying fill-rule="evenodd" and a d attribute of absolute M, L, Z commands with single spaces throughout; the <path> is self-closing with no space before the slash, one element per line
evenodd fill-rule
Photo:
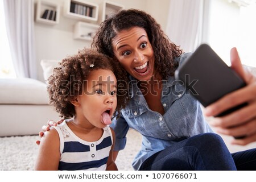
<path fill-rule="evenodd" d="M 210 0 L 171 0 L 166 34 L 184 52 L 207 43 Z"/>

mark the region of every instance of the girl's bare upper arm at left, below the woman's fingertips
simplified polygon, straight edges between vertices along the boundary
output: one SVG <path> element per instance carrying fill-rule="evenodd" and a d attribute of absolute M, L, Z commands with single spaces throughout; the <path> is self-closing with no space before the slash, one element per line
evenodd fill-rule
<path fill-rule="evenodd" d="M 44 133 L 40 146 L 38 157 L 35 163 L 35 170 L 47 171 L 57 170 L 60 161 L 60 139 L 55 129 L 50 129 Z"/>

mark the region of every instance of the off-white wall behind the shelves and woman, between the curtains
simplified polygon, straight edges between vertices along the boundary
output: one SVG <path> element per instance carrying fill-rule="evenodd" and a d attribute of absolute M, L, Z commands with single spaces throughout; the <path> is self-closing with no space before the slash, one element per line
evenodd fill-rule
<path fill-rule="evenodd" d="M 44 0 L 46 1 L 46 0 Z M 42 59 L 62 60 L 67 55 L 77 53 L 78 49 L 90 47 L 90 42 L 73 39 L 73 26 L 78 21 L 63 16 L 64 1 L 48 0 L 60 5 L 60 23 L 48 25 L 35 22 L 36 61 L 38 63 L 38 79 L 43 81 L 43 71 L 40 67 Z M 100 5 L 104 0 L 86 0 Z M 170 0 L 109 0 L 125 6 L 125 9 L 140 9 L 151 14 L 163 30 L 166 30 L 168 7 Z M 36 2 L 36 0 L 35 0 Z M 161 2 L 161 3 L 160 3 Z M 36 12 L 36 6 L 35 6 Z"/>

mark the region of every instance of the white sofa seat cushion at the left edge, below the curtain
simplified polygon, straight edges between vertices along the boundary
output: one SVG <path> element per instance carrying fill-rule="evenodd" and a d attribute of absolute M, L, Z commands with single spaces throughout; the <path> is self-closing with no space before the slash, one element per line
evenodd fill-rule
<path fill-rule="evenodd" d="M 0 79 L 0 104 L 48 105 L 47 85 L 32 78 Z"/>

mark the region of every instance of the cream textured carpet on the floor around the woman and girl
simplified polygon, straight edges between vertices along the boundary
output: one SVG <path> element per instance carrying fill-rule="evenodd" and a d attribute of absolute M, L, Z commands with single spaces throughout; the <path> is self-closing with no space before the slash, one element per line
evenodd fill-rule
<path fill-rule="evenodd" d="M 230 152 L 256 147 L 256 142 L 242 147 L 229 144 L 231 137 L 222 136 L 222 138 L 224 138 Z M 38 139 L 38 136 L 0 138 L 0 170 L 33 170 L 39 148 L 35 141 Z M 125 150 L 119 152 L 116 161 L 119 170 L 133 170 L 131 163 L 141 148 L 141 141 L 141 135 L 130 129 L 127 134 Z"/>

